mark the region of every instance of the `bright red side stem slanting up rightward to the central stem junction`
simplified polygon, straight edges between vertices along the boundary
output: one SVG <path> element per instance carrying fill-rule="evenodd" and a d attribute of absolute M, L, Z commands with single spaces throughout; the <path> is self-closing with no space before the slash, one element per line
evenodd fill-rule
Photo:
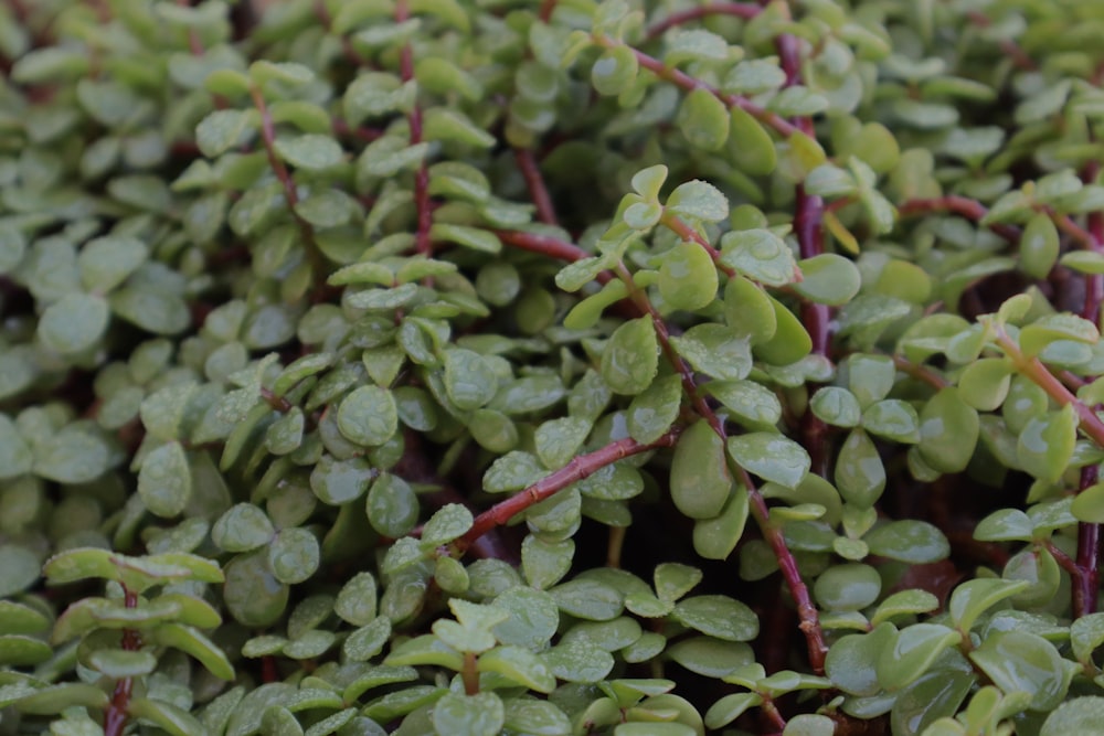
<path fill-rule="evenodd" d="M 526 490 L 511 495 L 506 501 L 496 503 L 493 506 L 476 516 L 475 523 L 467 534 L 457 540 L 454 544 L 460 552 L 467 550 L 476 540 L 495 529 L 503 526 L 511 519 L 535 503 L 540 503 L 555 493 L 567 488 L 572 483 L 583 480 L 587 476 L 597 472 L 607 465 L 612 465 L 633 455 L 647 452 L 659 447 L 670 447 L 679 436 L 678 428 L 671 428 L 666 435 L 655 442 L 641 445 L 628 437 L 609 442 L 602 449 L 586 455 L 580 455 L 571 462 L 560 468 L 550 476 L 545 476 Z"/>

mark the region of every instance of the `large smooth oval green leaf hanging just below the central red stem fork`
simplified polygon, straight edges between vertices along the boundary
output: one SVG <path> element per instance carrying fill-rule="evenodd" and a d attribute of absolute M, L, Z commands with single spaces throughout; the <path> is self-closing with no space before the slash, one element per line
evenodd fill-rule
<path fill-rule="evenodd" d="M 732 482 L 724 457 L 724 441 L 705 419 L 699 419 L 679 436 L 675 445 L 671 501 L 690 519 L 712 519 L 721 513 L 729 500 Z"/>

